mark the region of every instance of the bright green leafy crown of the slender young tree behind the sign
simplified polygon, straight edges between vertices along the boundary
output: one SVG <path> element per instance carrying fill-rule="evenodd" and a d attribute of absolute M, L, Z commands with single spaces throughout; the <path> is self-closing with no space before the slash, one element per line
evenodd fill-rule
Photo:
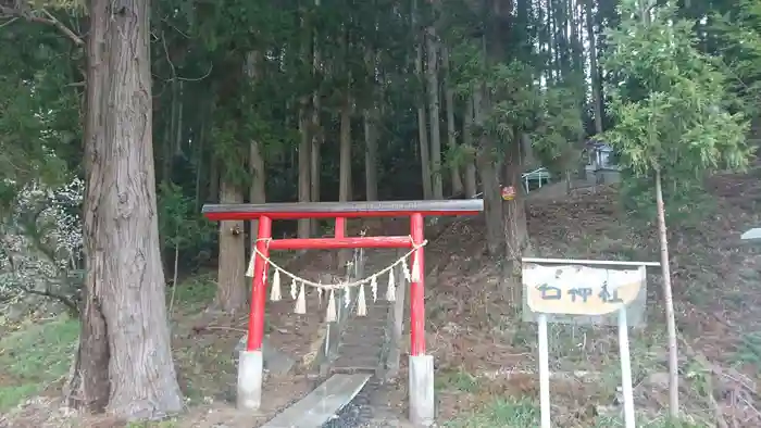
<path fill-rule="evenodd" d="M 600 136 L 620 164 L 637 176 L 669 171 L 672 179 L 745 167 L 752 152 L 748 124 L 731 110 L 726 76 L 695 48 L 693 24 L 674 20 L 673 8 L 656 8 L 650 23 L 634 8 L 622 15 L 635 17 L 607 32 L 603 64 L 616 76 L 606 89 L 615 125 Z"/>

